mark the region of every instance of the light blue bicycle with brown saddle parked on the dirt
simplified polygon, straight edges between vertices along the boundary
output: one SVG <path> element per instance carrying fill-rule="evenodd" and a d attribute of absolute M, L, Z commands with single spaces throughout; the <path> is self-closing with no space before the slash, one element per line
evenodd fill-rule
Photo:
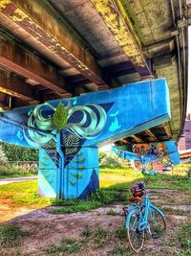
<path fill-rule="evenodd" d="M 145 231 L 153 238 L 159 238 L 166 229 L 164 214 L 151 203 L 146 193 L 149 180 L 147 178 L 131 188 L 134 196 L 129 198 L 131 205 L 123 208 L 128 241 L 135 252 L 139 252 L 144 245 Z"/>

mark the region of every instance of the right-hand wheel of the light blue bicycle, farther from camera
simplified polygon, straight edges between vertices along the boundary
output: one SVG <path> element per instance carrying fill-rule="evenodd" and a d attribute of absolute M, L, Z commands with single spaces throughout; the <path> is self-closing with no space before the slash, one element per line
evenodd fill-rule
<path fill-rule="evenodd" d="M 165 218 L 153 206 L 149 210 L 148 222 L 153 238 L 158 238 L 166 230 Z"/>

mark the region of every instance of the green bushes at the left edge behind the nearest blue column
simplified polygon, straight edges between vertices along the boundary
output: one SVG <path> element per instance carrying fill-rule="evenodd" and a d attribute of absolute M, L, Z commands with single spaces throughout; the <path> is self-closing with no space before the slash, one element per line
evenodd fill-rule
<path fill-rule="evenodd" d="M 38 151 L 17 145 L 0 143 L 0 147 L 9 161 L 37 161 Z"/>

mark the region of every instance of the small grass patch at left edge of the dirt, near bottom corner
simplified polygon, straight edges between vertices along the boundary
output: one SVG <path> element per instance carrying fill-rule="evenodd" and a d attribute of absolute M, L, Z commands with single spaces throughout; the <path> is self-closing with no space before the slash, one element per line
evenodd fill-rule
<path fill-rule="evenodd" d="M 0 247 L 19 245 L 21 238 L 29 235 L 29 231 L 23 231 L 18 225 L 0 225 Z"/>

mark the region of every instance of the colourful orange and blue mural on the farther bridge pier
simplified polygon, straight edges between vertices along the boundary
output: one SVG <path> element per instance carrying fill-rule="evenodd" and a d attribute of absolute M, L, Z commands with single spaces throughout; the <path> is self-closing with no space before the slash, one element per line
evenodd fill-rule
<path fill-rule="evenodd" d="M 138 172 L 146 174 L 162 173 L 180 164 L 180 155 L 175 141 L 132 144 L 114 147 L 119 157 L 134 160 Z"/>

